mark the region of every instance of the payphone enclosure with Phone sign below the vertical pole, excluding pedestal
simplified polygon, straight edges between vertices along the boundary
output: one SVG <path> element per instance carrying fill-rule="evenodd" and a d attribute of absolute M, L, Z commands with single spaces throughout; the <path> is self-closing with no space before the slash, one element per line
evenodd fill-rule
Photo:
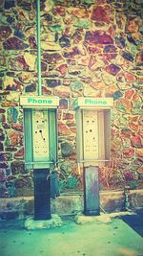
<path fill-rule="evenodd" d="M 26 168 L 50 168 L 57 159 L 57 97 L 22 96 Z"/>

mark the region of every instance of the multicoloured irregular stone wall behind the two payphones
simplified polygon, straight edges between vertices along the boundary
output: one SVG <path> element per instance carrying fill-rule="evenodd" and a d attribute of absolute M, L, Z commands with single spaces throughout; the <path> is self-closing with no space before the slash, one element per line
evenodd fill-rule
<path fill-rule="evenodd" d="M 142 184 L 141 0 L 43 0 L 43 95 L 59 96 L 61 189 L 80 190 L 76 172 L 76 97 L 112 97 L 111 167 L 101 188 Z M 0 196 L 32 194 L 24 168 L 20 95 L 37 94 L 35 1 L 0 0 Z"/>

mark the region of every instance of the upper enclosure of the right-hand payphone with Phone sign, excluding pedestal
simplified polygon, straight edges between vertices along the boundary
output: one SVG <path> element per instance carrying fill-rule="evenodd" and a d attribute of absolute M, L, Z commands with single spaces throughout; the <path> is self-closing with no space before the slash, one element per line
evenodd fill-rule
<path fill-rule="evenodd" d="M 112 98 L 78 98 L 76 110 L 77 162 L 98 165 L 110 160 Z"/>

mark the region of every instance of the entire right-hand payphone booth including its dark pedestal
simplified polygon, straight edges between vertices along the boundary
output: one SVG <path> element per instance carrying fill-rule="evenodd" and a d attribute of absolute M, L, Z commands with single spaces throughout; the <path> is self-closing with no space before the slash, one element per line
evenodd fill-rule
<path fill-rule="evenodd" d="M 112 98 L 78 98 L 76 111 L 77 164 L 83 168 L 84 214 L 100 214 L 99 166 L 110 163 Z"/>

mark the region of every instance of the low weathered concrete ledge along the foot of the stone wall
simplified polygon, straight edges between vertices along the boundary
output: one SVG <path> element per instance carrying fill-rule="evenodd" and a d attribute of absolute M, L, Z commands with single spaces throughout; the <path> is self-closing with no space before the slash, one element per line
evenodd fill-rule
<path fill-rule="evenodd" d="M 0 198 L 0 221 L 10 219 L 24 219 L 34 214 L 33 197 Z M 129 193 L 129 209 L 135 211 L 143 208 L 143 190 L 133 190 Z M 62 195 L 51 199 L 51 214 L 59 216 L 80 215 L 84 211 L 83 194 Z M 100 212 L 126 211 L 125 194 L 123 191 L 101 191 Z"/>

